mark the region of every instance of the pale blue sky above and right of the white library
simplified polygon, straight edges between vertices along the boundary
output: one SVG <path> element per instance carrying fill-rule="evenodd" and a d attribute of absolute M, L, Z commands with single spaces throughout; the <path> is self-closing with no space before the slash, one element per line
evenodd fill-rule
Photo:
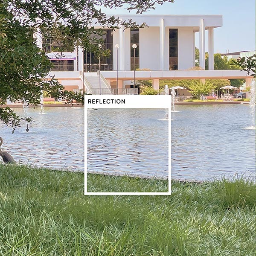
<path fill-rule="evenodd" d="M 223 26 L 214 29 L 214 52 L 226 53 L 255 50 L 255 0 L 175 0 L 174 3 L 156 5 L 155 10 L 144 14 L 156 15 L 223 15 Z M 125 8 L 105 9 L 106 14 L 129 14 Z M 136 12 L 130 12 L 135 14 Z M 199 48 L 199 33 L 195 35 Z M 208 51 L 208 32 L 205 34 L 205 51 Z"/>

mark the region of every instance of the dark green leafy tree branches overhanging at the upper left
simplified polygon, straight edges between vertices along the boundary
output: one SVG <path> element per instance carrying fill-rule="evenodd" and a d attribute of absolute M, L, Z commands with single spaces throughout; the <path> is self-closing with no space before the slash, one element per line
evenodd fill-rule
<path fill-rule="evenodd" d="M 82 47 L 99 51 L 103 29 L 143 28 L 131 19 L 106 15 L 108 9 L 124 7 L 141 14 L 157 4 L 174 0 L 1 0 L 0 1 L 0 121 L 15 129 L 20 116 L 3 104 L 23 100 L 39 104 L 42 91 L 55 99 L 64 98 L 72 103 L 83 103 L 84 92 L 68 92 L 48 73 L 51 63 L 36 44 L 35 35 L 52 39 L 51 51 L 72 51 Z M 56 43 L 56 44 L 55 44 Z M 104 52 L 102 52 L 104 54 Z"/>

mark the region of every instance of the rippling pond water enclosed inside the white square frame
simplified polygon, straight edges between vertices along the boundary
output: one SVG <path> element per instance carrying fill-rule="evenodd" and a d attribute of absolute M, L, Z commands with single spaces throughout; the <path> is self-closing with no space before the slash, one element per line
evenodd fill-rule
<path fill-rule="evenodd" d="M 161 115 L 164 109 L 88 110 L 88 171 L 168 174 L 168 122 Z"/>

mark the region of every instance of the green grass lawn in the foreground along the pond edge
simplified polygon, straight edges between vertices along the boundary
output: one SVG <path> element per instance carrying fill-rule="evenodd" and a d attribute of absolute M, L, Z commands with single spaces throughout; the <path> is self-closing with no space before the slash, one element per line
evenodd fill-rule
<path fill-rule="evenodd" d="M 91 189 L 94 178 L 88 177 Z M 173 182 L 170 196 L 84 196 L 83 190 L 82 173 L 0 165 L 0 255 L 255 255 L 249 181 Z"/>

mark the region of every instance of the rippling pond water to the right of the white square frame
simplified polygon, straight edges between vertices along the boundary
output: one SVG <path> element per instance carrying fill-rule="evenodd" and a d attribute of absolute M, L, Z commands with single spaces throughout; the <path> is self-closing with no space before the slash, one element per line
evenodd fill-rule
<path fill-rule="evenodd" d="M 190 105 L 172 113 L 172 177 L 254 176 L 255 130 L 248 105 Z"/>

